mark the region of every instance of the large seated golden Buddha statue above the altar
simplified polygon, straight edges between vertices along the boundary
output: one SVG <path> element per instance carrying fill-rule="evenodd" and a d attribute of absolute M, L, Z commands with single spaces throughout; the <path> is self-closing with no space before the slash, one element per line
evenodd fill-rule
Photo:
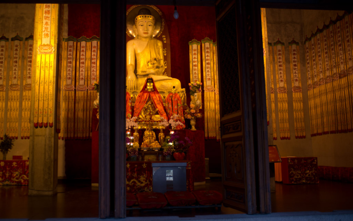
<path fill-rule="evenodd" d="M 126 85 L 129 91 L 141 91 L 148 77 L 153 78 L 160 91 L 172 91 L 173 86 L 176 90 L 181 89 L 179 80 L 163 76 L 163 44 L 152 36 L 154 24 L 151 11 L 140 9 L 133 26 L 135 38 L 126 43 Z"/>

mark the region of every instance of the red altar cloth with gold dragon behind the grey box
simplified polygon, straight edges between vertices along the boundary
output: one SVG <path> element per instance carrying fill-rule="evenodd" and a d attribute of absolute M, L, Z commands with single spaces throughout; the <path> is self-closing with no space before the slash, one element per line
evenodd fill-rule
<path fill-rule="evenodd" d="M 126 192 L 142 193 L 151 192 L 153 186 L 152 163 L 173 163 L 176 161 L 126 161 Z M 186 189 L 194 191 L 192 166 L 186 162 Z"/>

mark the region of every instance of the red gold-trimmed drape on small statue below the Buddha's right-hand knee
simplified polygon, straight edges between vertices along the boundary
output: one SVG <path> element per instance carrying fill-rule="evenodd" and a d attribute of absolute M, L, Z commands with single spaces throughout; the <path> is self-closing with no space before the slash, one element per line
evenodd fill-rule
<path fill-rule="evenodd" d="M 174 114 L 179 115 L 179 121 L 184 125 L 177 125 L 176 129 L 185 128 L 185 119 L 182 110 L 181 98 L 177 93 L 170 93 L 166 97 L 166 112 L 168 115 L 168 119 L 170 119 L 171 116 L 173 116 Z"/>

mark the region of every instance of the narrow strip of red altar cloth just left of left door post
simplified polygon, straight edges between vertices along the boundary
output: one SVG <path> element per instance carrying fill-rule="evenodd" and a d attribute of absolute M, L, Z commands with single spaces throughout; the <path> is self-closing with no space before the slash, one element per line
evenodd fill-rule
<path fill-rule="evenodd" d="M 98 183 L 99 180 L 99 131 L 98 131 L 98 108 L 92 111 L 92 170 L 91 183 Z"/>

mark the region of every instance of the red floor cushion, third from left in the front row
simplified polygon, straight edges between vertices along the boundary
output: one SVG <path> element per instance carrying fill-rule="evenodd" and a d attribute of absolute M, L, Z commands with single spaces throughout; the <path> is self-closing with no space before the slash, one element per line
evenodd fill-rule
<path fill-rule="evenodd" d="M 172 206 L 190 206 L 196 202 L 195 196 L 187 191 L 168 191 L 164 195 Z"/>

